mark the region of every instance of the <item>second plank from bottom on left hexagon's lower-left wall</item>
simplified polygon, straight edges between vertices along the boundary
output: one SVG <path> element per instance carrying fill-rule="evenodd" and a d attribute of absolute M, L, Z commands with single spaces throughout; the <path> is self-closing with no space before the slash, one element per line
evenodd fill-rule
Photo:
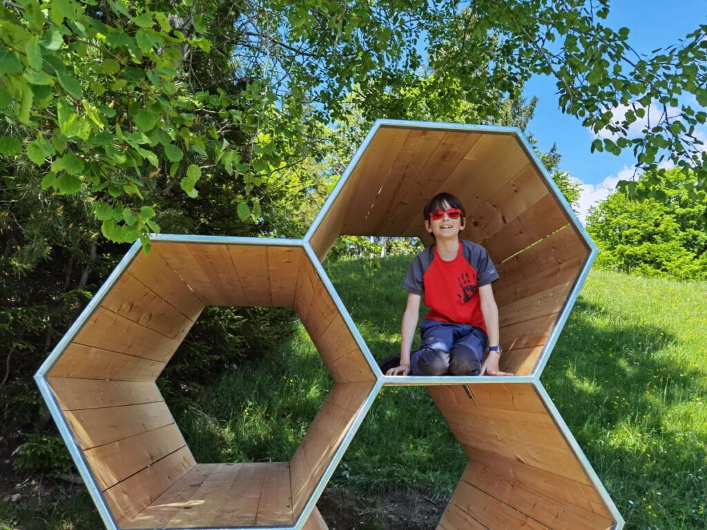
<path fill-rule="evenodd" d="M 155 430 L 87 449 L 83 455 L 100 489 L 107 490 L 177 449 L 185 447 L 186 444 L 177 425 L 170 423 Z"/>

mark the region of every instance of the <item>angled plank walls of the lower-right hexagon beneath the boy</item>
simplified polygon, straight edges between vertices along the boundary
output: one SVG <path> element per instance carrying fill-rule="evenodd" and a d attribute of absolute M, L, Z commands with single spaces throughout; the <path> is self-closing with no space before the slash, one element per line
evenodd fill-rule
<path fill-rule="evenodd" d="M 469 458 L 441 529 L 614 529 L 602 483 L 539 383 L 428 387 Z"/>

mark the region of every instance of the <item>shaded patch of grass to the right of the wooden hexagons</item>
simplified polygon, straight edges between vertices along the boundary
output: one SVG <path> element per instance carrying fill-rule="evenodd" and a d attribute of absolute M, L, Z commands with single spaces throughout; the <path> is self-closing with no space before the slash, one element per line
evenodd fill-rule
<path fill-rule="evenodd" d="M 578 299 L 542 382 L 627 530 L 703 529 L 707 440 L 684 415 L 706 373 L 674 362 L 665 329 L 608 311 Z"/>

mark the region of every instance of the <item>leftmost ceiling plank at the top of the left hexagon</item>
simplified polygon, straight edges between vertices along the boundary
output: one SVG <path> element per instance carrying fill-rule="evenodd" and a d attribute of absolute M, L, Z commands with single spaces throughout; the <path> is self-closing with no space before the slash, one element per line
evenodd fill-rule
<path fill-rule="evenodd" d="M 187 243 L 153 241 L 151 245 L 205 305 L 228 305 L 228 296 L 211 283 Z"/>

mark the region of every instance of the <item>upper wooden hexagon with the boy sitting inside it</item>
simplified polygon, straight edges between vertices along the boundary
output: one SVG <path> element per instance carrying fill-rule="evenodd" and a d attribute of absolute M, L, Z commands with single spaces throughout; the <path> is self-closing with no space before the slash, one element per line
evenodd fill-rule
<path fill-rule="evenodd" d="M 501 369 L 539 374 L 593 247 L 518 129 L 377 122 L 307 238 L 322 260 L 339 235 L 429 244 L 422 211 L 439 192 L 462 200 L 462 237 L 483 245 L 501 275 Z"/>

